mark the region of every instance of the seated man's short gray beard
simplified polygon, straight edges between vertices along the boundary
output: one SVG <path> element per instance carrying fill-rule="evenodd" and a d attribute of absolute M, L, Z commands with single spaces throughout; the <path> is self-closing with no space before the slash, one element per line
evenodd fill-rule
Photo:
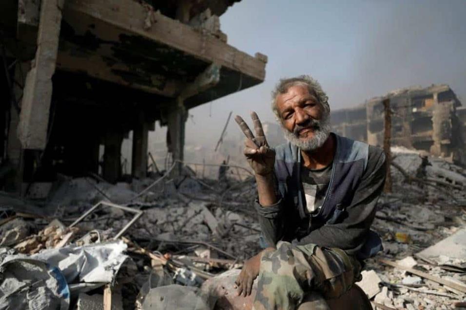
<path fill-rule="evenodd" d="M 285 128 L 281 122 L 280 124 L 282 126 L 285 139 L 287 139 L 292 145 L 299 147 L 301 150 L 309 152 L 323 146 L 330 135 L 330 117 L 326 117 L 321 121 L 317 122 L 318 128 L 313 129 L 314 135 L 312 136 L 312 138 L 308 138 L 307 140 L 299 139 L 299 136 L 295 135 L 293 132 Z"/>

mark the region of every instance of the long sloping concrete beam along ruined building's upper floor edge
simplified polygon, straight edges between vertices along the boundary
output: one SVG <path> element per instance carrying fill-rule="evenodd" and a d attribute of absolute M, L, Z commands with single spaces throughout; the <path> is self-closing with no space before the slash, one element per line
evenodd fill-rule
<path fill-rule="evenodd" d="M 215 62 L 220 66 L 264 80 L 263 61 L 238 51 L 214 36 L 197 32 L 189 25 L 160 13 L 148 11 L 134 0 L 120 0 L 117 3 L 112 0 L 69 0 L 64 11 L 65 20 L 67 16 L 74 14 L 83 14 L 104 21 L 120 30 L 100 32 L 96 27 L 94 33 L 100 40 L 117 42 L 122 32 L 137 35 L 166 44 L 207 63 Z M 144 21 L 148 14 L 152 14 L 152 26 L 145 30 Z"/>

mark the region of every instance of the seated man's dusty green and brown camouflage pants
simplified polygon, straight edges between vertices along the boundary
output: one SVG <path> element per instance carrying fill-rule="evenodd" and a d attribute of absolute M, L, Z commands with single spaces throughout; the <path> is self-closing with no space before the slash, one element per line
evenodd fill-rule
<path fill-rule="evenodd" d="M 306 302 L 329 309 L 325 299 L 337 298 L 360 279 L 359 262 L 339 249 L 280 241 L 261 258 L 253 310 L 296 309 Z"/>

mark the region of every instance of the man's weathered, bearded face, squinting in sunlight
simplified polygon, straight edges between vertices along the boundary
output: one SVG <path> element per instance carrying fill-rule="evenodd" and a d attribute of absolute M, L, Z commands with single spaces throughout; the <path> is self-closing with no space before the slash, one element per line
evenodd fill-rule
<path fill-rule="evenodd" d="M 330 134 L 329 113 L 303 85 L 291 86 L 276 97 L 285 137 L 304 151 L 323 145 Z"/>

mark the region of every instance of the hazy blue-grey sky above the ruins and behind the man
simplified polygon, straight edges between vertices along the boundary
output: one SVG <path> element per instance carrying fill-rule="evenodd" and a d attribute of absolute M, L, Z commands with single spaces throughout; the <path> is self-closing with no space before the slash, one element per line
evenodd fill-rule
<path fill-rule="evenodd" d="M 214 145 L 228 113 L 274 121 L 280 77 L 310 74 L 330 108 L 413 85 L 446 83 L 466 100 L 466 1 L 242 0 L 221 16 L 228 43 L 269 57 L 264 83 L 190 110 L 187 143 Z M 464 102 L 466 104 L 466 102 Z M 228 137 L 239 129 L 230 123 Z"/>

